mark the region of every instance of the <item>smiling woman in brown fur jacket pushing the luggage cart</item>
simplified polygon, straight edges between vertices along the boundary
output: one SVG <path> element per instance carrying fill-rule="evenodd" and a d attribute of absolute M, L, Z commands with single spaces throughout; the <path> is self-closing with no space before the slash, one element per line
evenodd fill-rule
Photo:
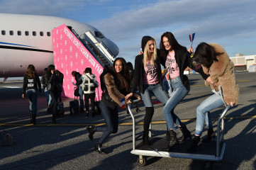
<path fill-rule="evenodd" d="M 88 126 L 87 130 L 89 131 L 90 140 L 93 140 L 94 132 L 104 132 L 101 138 L 96 142 L 94 149 L 100 154 L 107 154 L 108 152 L 102 147 L 102 143 L 109 135 L 111 135 L 111 133 L 116 133 L 118 131 L 117 106 L 122 106 L 123 102 L 130 102 L 124 100 L 125 95 L 130 88 L 130 74 L 128 67 L 126 66 L 126 60 L 121 57 L 116 58 L 113 62 L 113 69 L 108 69 L 108 67 L 105 66 L 100 79 L 101 90 L 104 91 L 104 96 L 101 98 L 99 107 L 101 108 L 101 113 L 106 121 L 106 126 Z M 135 97 L 140 100 L 140 96 L 135 95 Z"/>

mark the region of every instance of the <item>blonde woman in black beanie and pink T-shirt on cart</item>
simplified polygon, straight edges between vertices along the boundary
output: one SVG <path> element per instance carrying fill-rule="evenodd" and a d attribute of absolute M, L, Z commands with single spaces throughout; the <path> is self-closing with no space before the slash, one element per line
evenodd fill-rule
<path fill-rule="evenodd" d="M 145 105 L 145 118 L 143 124 L 143 145 L 149 145 L 148 132 L 152 116 L 154 114 L 154 107 L 151 101 L 151 94 L 163 104 L 167 103 L 169 96 L 162 88 L 162 72 L 160 66 L 160 51 L 156 48 L 155 39 L 150 36 L 144 36 L 141 41 L 143 55 L 136 56 L 135 58 L 135 73 L 131 82 L 131 93 L 126 96 L 126 99 L 133 96 L 137 86 L 139 86 L 140 95 L 143 98 Z M 177 118 L 177 125 L 182 124 Z"/>

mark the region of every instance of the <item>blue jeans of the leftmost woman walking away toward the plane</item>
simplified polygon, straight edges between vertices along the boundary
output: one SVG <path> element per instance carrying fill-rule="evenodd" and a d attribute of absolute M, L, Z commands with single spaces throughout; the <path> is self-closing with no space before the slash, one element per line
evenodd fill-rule
<path fill-rule="evenodd" d="M 38 112 L 38 90 L 27 90 L 27 96 L 29 101 L 29 111 L 30 113 L 33 113 L 33 115 L 36 115 Z"/>

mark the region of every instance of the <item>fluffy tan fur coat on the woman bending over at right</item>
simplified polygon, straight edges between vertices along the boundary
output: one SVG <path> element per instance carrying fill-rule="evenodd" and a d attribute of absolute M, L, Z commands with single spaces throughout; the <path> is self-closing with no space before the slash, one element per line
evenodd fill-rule
<path fill-rule="evenodd" d="M 209 69 L 202 65 L 205 74 L 209 74 L 209 71 L 211 71 L 210 77 L 214 82 L 209 84 L 205 81 L 206 86 L 210 85 L 211 89 L 218 91 L 218 86 L 221 85 L 224 101 L 226 103 L 234 102 L 238 104 L 239 89 L 235 81 L 233 62 L 229 59 L 228 54 L 221 45 L 215 43 L 208 43 L 208 45 L 211 45 L 216 52 L 223 54 L 217 56 L 218 62 L 214 61 Z"/>

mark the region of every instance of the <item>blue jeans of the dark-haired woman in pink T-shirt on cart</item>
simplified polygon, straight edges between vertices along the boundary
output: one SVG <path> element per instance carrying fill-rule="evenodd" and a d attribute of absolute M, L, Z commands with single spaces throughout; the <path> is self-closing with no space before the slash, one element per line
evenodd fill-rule
<path fill-rule="evenodd" d="M 177 125 L 180 124 L 181 126 L 184 124 L 179 120 L 177 115 L 174 114 L 174 108 L 179 104 L 180 101 L 182 101 L 189 91 L 182 84 L 182 79 L 180 79 L 180 77 L 172 79 L 172 88 L 173 91 L 171 96 L 162 111 L 165 115 L 168 130 L 174 130 L 174 132 L 176 132 L 174 122 L 176 122 Z M 179 124 L 177 122 L 179 122 Z"/>

